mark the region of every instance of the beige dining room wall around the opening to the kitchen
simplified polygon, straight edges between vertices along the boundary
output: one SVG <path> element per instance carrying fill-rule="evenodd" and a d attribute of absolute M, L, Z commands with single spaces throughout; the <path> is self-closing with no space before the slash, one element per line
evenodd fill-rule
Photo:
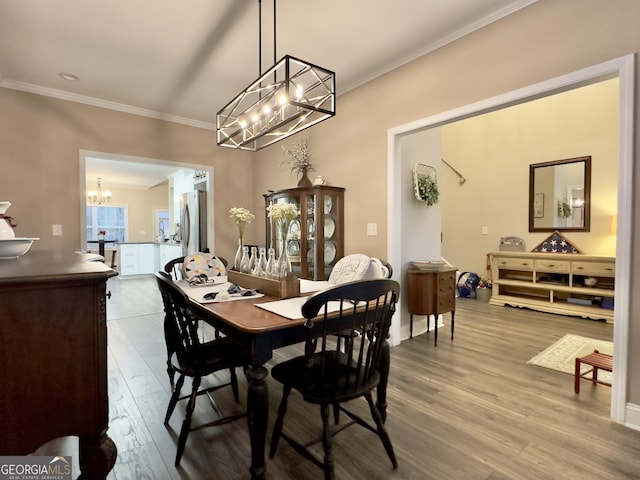
<path fill-rule="evenodd" d="M 216 245 L 235 252 L 226 212 L 253 202 L 251 154 L 217 148 L 215 132 L 3 88 L 0 112 L 0 197 L 12 202 L 16 235 L 40 237 L 34 249 L 82 248 L 79 152 L 89 150 L 213 166 Z"/>

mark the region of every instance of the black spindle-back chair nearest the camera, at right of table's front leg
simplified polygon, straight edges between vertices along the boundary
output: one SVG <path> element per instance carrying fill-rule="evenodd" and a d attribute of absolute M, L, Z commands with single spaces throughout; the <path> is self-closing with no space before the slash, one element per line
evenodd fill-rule
<path fill-rule="evenodd" d="M 394 280 L 358 280 L 317 292 L 304 303 L 302 314 L 307 319 L 305 354 L 282 362 L 271 370 L 273 378 L 284 388 L 273 429 L 270 458 L 274 457 L 282 437 L 303 457 L 322 468 L 325 479 L 334 479 L 332 437 L 358 424 L 380 437 L 391 464 L 394 468 L 398 466 L 372 391 L 381 381 L 378 366 L 385 354 L 384 342 L 399 292 L 400 286 Z M 343 348 L 339 339 L 347 330 L 351 336 L 347 348 Z M 340 332 L 340 337 L 335 335 L 336 332 Z M 305 402 L 320 405 L 322 433 L 309 442 L 296 440 L 283 429 L 292 389 L 300 392 Z M 361 397 L 369 404 L 374 425 L 345 405 Z M 329 421 L 331 407 L 334 410 L 333 426 Z M 342 412 L 348 421 L 340 420 Z M 310 450 L 319 442 L 324 447 L 322 460 Z"/>

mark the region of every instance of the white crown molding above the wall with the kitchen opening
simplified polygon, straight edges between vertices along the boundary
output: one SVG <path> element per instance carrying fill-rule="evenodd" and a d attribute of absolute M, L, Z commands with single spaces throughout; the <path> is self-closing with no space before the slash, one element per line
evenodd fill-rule
<path fill-rule="evenodd" d="M 66 100 L 69 102 L 82 103 L 84 105 L 90 105 L 92 107 L 106 108 L 108 110 L 129 113 L 131 115 L 139 115 L 141 117 L 179 123 L 181 125 L 187 125 L 189 127 L 203 128 L 205 130 L 216 129 L 215 124 L 211 122 L 203 122 L 200 120 L 193 120 L 191 118 L 179 117 L 177 115 L 156 112 L 153 110 L 148 110 L 146 108 L 133 107 L 124 103 L 110 102 L 108 100 L 88 97 L 86 95 L 78 95 L 76 93 L 65 92 L 64 90 L 56 90 L 55 88 L 42 87 L 40 85 L 33 85 L 31 83 L 15 82 L 13 80 L 2 80 L 0 81 L 0 87 L 8 88 L 11 90 L 19 90 L 21 92 L 33 93 L 36 95 L 44 95 L 45 97 L 57 98 L 59 100 Z"/>

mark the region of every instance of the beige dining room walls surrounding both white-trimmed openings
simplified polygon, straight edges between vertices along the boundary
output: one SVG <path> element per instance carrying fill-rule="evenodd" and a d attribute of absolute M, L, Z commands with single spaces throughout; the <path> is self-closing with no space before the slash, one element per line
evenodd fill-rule
<path fill-rule="evenodd" d="M 309 134 L 317 173 L 346 187 L 346 252 L 387 253 L 389 128 L 638 52 L 639 24 L 637 0 L 539 0 L 341 95 L 336 117 Z M 638 100 L 635 111 L 640 112 Z M 212 165 L 216 244 L 229 258 L 236 243 L 229 208 L 253 208 L 261 218 L 262 194 L 296 183 L 279 166 L 279 145 L 255 155 L 230 152 L 215 147 L 210 131 L 6 89 L 0 89 L 0 112 L 0 198 L 14 203 L 19 235 L 42 237 L 38 249 L 79 247 L 80 149 Z M 637 144 L 637 130 L 635 135 Z M 640 173 L 635 184 L 640 185 Z M 635 202 L 640 221 L 640 200 Z M 65 226 L 63 237 L 51 236 L 53 223 Z M 378 236 L 366 235 L 367 223 L 378 224 Z M 247 242 L 262 238 L 264 226 L 256 221 Z M 637 252 L 640 239 L 634 242 Z M 619 261 L 640 268 L 640 260 Z M 628 314 L 630 372 L 637 372 L 640 299 L 632 298 Z M 628 400 L 640 404 L 640 377 L 629 379 Z"/>

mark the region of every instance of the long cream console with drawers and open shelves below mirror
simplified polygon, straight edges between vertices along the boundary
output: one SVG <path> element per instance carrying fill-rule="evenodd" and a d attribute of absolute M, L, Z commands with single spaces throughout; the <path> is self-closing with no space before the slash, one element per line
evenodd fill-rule
<path fill-rule="evenodd" d="M 490 303 L 613 323 L 615 257 L 491 253 Z"/>

